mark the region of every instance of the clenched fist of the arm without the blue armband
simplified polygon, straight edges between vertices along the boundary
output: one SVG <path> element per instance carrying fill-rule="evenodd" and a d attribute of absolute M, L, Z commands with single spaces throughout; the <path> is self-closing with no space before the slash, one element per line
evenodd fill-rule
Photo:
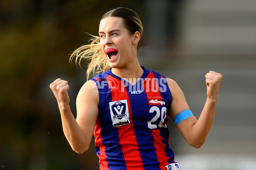
<path fill-rule="evenodd" d="M 67 94 L 69 90 L 68 82 L 62 79 L 56 79 L 50 84 L 50 88 L 57 99 L 58 105 L 69 105 L 70 98 Z"/>

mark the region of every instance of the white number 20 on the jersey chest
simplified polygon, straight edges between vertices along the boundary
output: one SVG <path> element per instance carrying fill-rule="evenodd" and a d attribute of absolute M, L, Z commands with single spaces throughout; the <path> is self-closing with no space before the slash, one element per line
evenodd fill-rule
<path fill-rule="evenodd" d="M 153 117 L 150 121 L 148 121 L 148 127 L 150 129 L 157 129 L 157 119 L 161 117 L 161 120 L 158 124 L 158 127 L 167 127 L 166 123 L 164 122 L 164 119 L 166 119 L 166 107 L 163 107 L 160 111 L 160 108 L 157 106 L 153 106 L 150 108 L 149 113 L 156 112 L 156 116 Z"/>

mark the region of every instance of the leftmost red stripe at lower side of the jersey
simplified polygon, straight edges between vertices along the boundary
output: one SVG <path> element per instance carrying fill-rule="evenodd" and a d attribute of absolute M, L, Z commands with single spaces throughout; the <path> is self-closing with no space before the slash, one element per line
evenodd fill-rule
<path fill-rule="evenodd" d="M 104 144 L 102 144 L 102 135 L 101 135 L 101 127 L 99 125 L 99 119 L 96 120 L 96 126 L 94 129 L 93 135 L 95 136 L 95 144 L 97 144 L 96 147 L 99 147 L 100 149 L 100 154 L 98 155 L 99 164 L 100 164 L 99 169 L 100 170 L 106 170 L 106 168 L 109 169 L 108 161 L 106 159 L 107 155 L 105 152 L 106 147 Z"/>

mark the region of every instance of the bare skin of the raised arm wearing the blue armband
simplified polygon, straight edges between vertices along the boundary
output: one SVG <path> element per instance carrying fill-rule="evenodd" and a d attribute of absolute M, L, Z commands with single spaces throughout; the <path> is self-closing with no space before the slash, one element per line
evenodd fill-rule
<path fill-rule="evenodd" d="M 212 127 L 215 114 L 215 106 L 218 99 L 218 90 L 221 84 L 222 75 L 210 71 L 205 75 L 207 85 L 207 100 L 199 119 L 191 116 L 177 124 L 177 129 L 186 141 L 193 147 L 201 147 Z M 183 92 L 177 83 L 172 79 L 167 79 L 172 92 L 172 104 L 169 115 L 173 120 L 180 112 L 189 109 Z"/>

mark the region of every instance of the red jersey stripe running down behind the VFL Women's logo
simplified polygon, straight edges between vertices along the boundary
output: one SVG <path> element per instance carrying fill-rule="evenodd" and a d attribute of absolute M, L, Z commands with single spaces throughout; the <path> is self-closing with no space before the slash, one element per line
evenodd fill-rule
<path fill-rule="evenodd" d="M 106 79 L 109 81 L 111 76 L 108 75 Z M 113 79 L 113 77 L 111 77 Z M 123 158 L 126 164 L 127 170 L 143 170 L 143 162 L 140 156 L 137 139 L 134 133 L 131 105 L 128 91 L 125 88 L 124 82 L 116 79 L 121 85 L 115 91 L 111 92 L 112 101 L 127 100 L 129 121 L 131 124 L 116 127 L 118 129 L 119 143 L 122 148 Z"/>

